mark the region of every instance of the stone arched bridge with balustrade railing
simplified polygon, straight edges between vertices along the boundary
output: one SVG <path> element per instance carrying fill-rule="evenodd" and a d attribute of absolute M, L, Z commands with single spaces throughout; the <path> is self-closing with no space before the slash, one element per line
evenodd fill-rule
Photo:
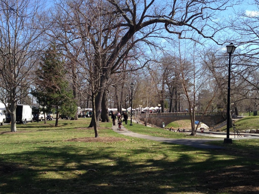
<path fill-rule="evenodd" d="M 195 113 L 195 120 L 206 124 L 208 127 L 214 127 L 215 125 L 222 123 L 227 118 L 226 112 L 215 112 L 206 113 L 203 112 Z M 148 123 L 154 124 L 159 127 L 163 127 L 163 122 L 165 126 L 173 121 L 178 120 L 190 120 L 189 112 L 184 113 L 150 113 L 148 114 Z M 140 120 L 145 121 L 146 114 L 140 114 Z"/>

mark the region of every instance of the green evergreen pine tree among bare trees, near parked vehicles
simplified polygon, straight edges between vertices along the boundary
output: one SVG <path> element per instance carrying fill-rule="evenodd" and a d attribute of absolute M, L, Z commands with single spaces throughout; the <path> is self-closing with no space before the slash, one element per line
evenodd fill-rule
<path fill-rule="evenodd" d="M 40 69 L 37 71 L 38 100 L 46 110 L 55 108 L 57 114 L 55 126 L 58 125 L 60 113 L 71 116 L 77 110 L 73 91 L 66 80 L 63 63 L 61 54 L 52 46 L 42 57 Z"/>

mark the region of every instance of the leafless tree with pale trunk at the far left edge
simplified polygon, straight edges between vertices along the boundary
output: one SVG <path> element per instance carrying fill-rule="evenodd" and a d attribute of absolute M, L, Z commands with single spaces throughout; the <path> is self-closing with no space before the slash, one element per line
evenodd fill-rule
<path fill-rule="evenodd" d="M 16 132 L 16 104 L 33 85 L 32 69 L 42 44 L 40 1 L 0 2 L 0 87 L 1 101 L 7 102 L 11 131 Z M 21 96 L 21 97 L 20 97 Z"/>

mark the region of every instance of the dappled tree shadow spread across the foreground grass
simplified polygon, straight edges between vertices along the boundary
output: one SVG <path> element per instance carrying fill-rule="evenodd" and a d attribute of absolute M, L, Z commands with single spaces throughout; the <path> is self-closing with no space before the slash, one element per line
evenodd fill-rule
<path fill-rule="evenodd" d="M 150 142 L 2 154 L 0 193 L 258 193 L 258 153 Z"/>

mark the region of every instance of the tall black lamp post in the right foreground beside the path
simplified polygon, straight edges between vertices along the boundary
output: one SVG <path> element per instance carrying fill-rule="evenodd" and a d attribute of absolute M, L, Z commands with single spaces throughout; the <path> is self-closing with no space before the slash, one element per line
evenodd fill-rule
<path fill-rule="evenodd" d="M 227 53 L 229 54 L 229 63 L 228 63 L 228 88 L 227 88 L 227 138 L 224 139 L 224 143 L 232 144 L 232 139 L 229 138 L 229 126 L 230 126 L 230 71 L 231 71 L 231 54 L 234 53 L 236 47 L 233 43 L 227 47 Z"/>

